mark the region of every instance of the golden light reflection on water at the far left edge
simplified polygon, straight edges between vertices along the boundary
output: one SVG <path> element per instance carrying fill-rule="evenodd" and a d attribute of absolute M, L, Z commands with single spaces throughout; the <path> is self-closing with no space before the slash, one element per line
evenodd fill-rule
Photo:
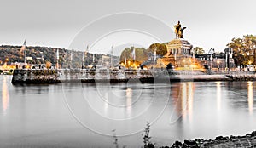
<path fill-rule="evenodd" d="M 2 104 L 3 104 L 3 113 L 5 114 L 7 109 L 9 108 L 9 91 L 7 86 L 7 77 L 3 78 L 3 86 L 2 86 Z"/>

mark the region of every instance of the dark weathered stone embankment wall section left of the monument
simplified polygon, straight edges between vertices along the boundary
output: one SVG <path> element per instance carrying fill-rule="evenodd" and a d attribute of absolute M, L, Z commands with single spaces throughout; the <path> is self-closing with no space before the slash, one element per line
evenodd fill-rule
<path fill-rule="evenodd" d="M 160 74 L 166 75 L 166 71 L 158 71 Z M 119 83 L 131 79 L 150 81 L 153 77 L 153 72 L 148 70 L 15 70 L 12 83 Z"/>

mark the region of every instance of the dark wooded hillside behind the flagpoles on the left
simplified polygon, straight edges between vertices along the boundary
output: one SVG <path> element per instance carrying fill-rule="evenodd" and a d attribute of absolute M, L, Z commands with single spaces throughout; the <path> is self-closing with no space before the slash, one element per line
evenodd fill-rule
<path fill-rule="evenodd" d="M 59 49 L 59 65 L 62 68 L 72 66 L 80 68 L 82 65 L 83 53 L 76 50 L 68 50 L 65 48 L 48 48 L 39 46 L 26 46 L 25 52 L 20 50 L 21 46 L 2 45 L 0 46 L 0 65 L 7 62 L 8 65 L 15 62 L 24 63 L 24 53 L 26 54 L 26 63 L 29 64 L 45 64 L 47 61 L 53 65 L 57 63 L 56 52 Z M 102 64 L 103 54 L 84 54 L 84 65 Z M 94 56 L 94 58 L 93 58 Z M 114 57 L 117 59 L 118 57 Z M 72 60 L 71 60 L 72 59 Z M 93 61 L 94 59 L 94 61 Z"/>

